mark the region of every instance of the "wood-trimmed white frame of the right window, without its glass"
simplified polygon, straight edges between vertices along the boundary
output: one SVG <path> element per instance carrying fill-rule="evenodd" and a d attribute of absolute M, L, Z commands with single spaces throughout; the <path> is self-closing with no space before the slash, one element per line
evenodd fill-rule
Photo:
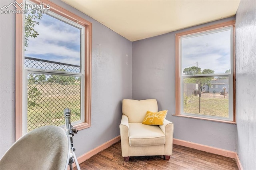
<path fill-rule="evenodd" d="M 234 63 L 234 21 L 216 24 L 204 28 L 190 30 L 176 34 L 176 111 L 175 116 L 190 117 L 195 119 L 204 119 L 210 121 L 220 121 L 226 123 L 235 123 L 235 63 Z M 200 36 L 205 34 L 212 34 L 215 32 L 221 32 L 223 30 L 230 30 L 230 73 L 222 74 L 199 74 L 199 75 L 184 75 L 182 74 L 182 52 L 181 52 L 181 39 L 189 38 L 193 36 Z M 183 113 L 183 82 L 185 78 L 200 78 L 200 77 L 228 77 L 229 79 L 229 114 L 228 118 L 216 117 L 210 115 L 197 115 L 190 113 Z"/>

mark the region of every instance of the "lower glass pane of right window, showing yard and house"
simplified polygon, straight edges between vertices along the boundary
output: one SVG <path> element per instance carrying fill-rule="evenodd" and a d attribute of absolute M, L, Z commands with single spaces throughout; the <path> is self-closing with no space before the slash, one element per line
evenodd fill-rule
<path fill-rule="evenodd" d="M 228 77 L 184 78 L 183 113 L 228 118 Z"/>

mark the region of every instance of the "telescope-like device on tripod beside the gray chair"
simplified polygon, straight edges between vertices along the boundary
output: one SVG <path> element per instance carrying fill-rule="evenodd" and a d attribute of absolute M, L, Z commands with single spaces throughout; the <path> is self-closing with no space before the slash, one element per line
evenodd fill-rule
<path fill-rule="evenodd" d="M 73 170 L 73 163 L 76 163 L 76 168 L 78 170 L 80 170 L 80 166 L 78 164 L 77 158 L 76 158 L 76 154 L 75 151 L 76 149 L 73 147 L 73 136 L 75 133 L 78 132 L 78 130 L 76 130 L 76 128 L 74 128 L 71 125 L 71 121 L 70 121 L 70 117 L 71 117 L 71 111 L 70 109 L 66 108 L 64 109 L 64 118 L 65 118 L 65 128 L 66 128 L 66 132 L 68 133 L 68 136 L 70 137 L 70 156 L 69 156 L 69 167 L 70 170 Z"/>

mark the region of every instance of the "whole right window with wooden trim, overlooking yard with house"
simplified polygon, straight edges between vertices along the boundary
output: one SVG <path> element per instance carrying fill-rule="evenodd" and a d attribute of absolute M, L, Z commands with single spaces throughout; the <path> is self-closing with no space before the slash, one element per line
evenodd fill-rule
<path fill-rule="evenodd" d="M 176 34 L 176 113 L 235 122 L 234 21 Z"/>

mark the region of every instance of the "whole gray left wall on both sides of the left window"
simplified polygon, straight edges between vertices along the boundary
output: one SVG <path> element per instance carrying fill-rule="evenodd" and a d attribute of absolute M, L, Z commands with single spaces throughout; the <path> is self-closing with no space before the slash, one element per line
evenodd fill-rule
<path fill-rule="evenodd" d="M 0 0 L 0 6 L 12 0 Z M 91 127 L 74 136 L 76 156 L 118 136 L 121 101 L 132 97 L 132 42 L 60 0 L 92 22 Z M 0 158 L 15 141 L 15 15 L 0 14 Z"/>

